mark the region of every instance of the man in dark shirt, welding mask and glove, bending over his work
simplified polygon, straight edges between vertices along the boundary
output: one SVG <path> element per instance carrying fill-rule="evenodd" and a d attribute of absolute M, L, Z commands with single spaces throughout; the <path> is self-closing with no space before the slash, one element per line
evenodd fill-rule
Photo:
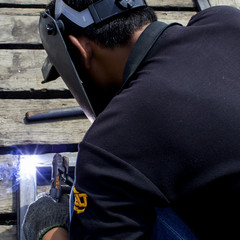
<path fill-rule="evenodd" d="M 26 239 L 239 239 L 240 11 L 182 26 L 144 0 L 56 0 L 39 27 L 45 81 L 93 123 L 69 216 L 66 195 L 39 198 Z"/>

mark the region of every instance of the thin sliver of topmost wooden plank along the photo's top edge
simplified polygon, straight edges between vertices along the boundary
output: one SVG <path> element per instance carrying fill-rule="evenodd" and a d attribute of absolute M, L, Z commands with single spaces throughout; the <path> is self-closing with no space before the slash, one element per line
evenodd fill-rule
<path fill-rule="evenodd" d="M 49 0 L 0 0 L 0 3 L 11 3 L 11 4 L 43 4 L 46 5 Z M 147 0 L 150 6 L 173 6 L 173 7 L 193 7 L 192 0 Z"/>

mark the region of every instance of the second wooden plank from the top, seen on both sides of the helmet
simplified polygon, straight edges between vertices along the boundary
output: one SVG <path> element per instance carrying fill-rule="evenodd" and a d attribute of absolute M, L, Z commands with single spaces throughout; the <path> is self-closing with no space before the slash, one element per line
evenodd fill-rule
<path fill-rule="evenodd" d="M 41 43 L 38 31 L 40 9 L 0 8 L 0 43 Z M 158 12 L 166 22 L 186 23 L 194 12 Z"/>

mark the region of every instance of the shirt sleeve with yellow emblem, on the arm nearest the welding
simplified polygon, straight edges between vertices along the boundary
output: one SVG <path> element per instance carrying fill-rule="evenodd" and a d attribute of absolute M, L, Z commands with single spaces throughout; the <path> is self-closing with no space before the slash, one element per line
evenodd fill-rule
<path fill-rule="evenodd" d="M 80 144 L 70 239 L 150 239 L 154 202 L 168 203 L 141 172 L 105 150 Z"/>

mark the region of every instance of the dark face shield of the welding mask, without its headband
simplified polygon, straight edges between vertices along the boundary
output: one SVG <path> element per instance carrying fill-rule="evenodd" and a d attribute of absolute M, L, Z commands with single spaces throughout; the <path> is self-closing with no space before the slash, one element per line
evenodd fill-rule
<path fill-rule="evenodd" d="M 44 81 L 51 81 L 60 75 L 87 118 L 93 122 L 96 117 L 95 112 L 68 52 L 60 24 L 60 21 L 55 21 L 47 12 L 41 13 L 39 33 L 48 54 L 42 68 Z"/>

